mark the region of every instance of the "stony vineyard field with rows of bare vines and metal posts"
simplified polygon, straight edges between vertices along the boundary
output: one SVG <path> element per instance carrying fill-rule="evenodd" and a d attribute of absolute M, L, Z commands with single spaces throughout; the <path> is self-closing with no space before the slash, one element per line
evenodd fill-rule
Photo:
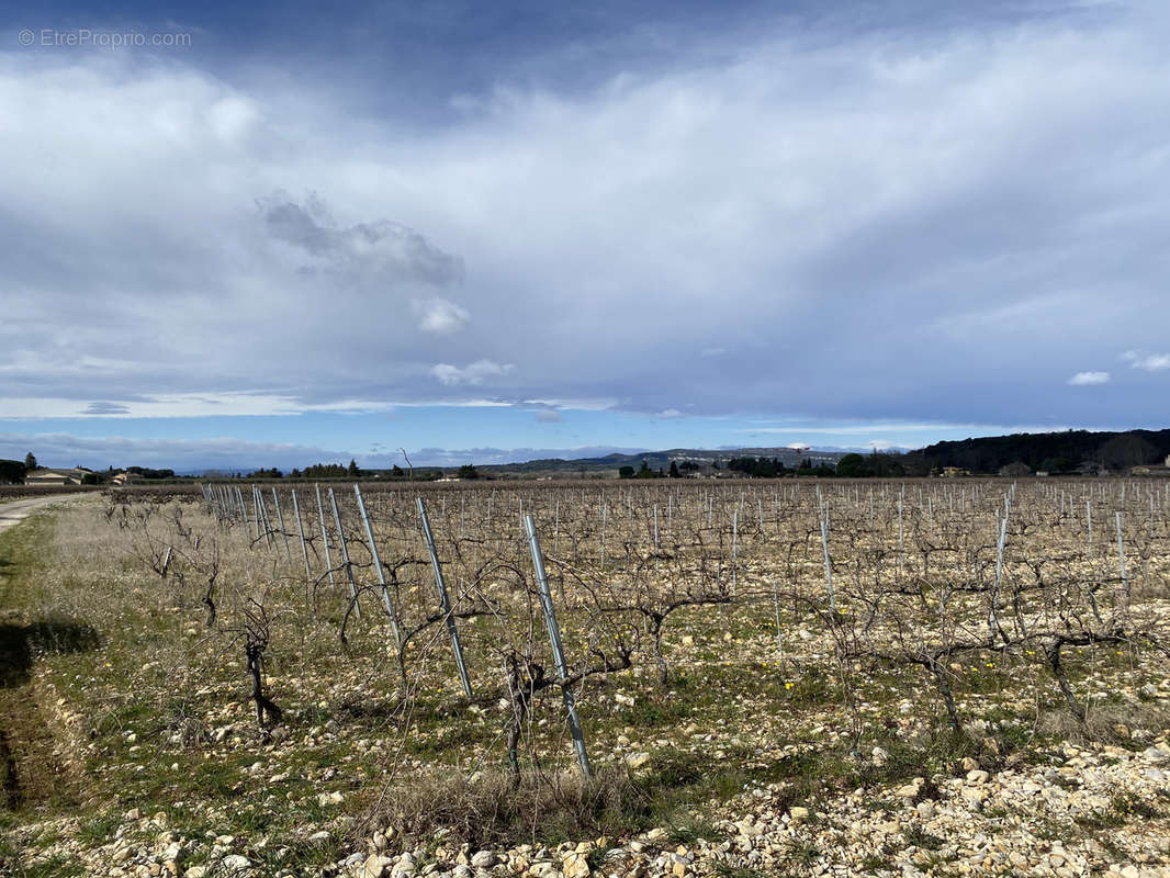
<path fill-rule="evenodd" d="M 1170 874 L 1168 488 L 90 494 L 0 535 L 0 873 Z"/>

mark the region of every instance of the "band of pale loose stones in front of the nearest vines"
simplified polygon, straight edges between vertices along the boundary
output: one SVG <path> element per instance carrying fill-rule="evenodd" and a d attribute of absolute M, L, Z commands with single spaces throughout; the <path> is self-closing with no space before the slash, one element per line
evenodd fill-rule
<path fill-rule="evenodd" d="M 1162 693 L 1170 698 L 1170 692 Z M 873 757 L 881 760 L 881 754 Z M 1164 734 L 1140 752 L 1119 747 L 1061 747 L 1045 764 L 994 774 L 972 767 L 959 777 L 915 777 L 897 788 L 854 790 L 806 808 L 784 805 L 782 787 L 759 787 L 703 817 L 710 829 L 683 841 L 655 828 L 625 839 L 586 839 L 553 848 L 402 850 L 393 828 L 376 832 L 367 850 L 325 872 L 362 878 L 434 874 L 581 878 L 625 876 L 776 874 L 1034 874 L 1170 876 L 1170 743 Z M 21 836 L 51 831 L 26 828 Z M 67 823 L 57 825 L 68 831 Z M 82 849 L 75 841 L 46 845 L 46 862 L 77 856 L 90 874 L 253 874 L 233 836 L 177 832 L 165 812 L 131 810 L 111 823 L 109 839 Z M 686 835 L 686 834 L 683 834 Z M 325 843 L 326 830 L 307 835 Z M 282 839 L 269 839 L 280 845 Z M 255 846 L 253 841 L 249 846 Z M 192 855 L 207 863 L 185 867 Z M 281 874 L 276 871 L 275 874 Z M 288 874 L 292 874 L 289 872 Z"/>

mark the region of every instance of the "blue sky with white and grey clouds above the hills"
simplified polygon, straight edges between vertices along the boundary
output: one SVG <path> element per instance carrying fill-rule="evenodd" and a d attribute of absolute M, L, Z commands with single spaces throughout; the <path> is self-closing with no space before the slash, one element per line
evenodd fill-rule
<path fill-rule="evenodd" d="M 0 457 L 1168 426 L 1170 7 L 25 5 Z"/>

